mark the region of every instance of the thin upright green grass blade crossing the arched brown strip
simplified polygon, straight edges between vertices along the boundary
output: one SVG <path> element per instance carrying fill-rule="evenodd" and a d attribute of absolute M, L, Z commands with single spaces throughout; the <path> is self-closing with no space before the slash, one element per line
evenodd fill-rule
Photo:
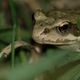
<path fill-rule="evenodd" d="M 13 20 L 13 31 L 12 31 L 12 57 L 11 57 L 11 62 L 12 62 L 12 68 L 14 68 L 14 58 L 15 58 L 15 49 L 14 49 L 14 45 L 15 45 L 15 39 L 16 39 L 16 30 L 17 30 L 17 20 L 16 20 L 16 12 L 15 12 L 15 6 L 13 3 L 13 0 L 9 0 L 9 6 L 11 8 L 11 13 L 12 13 L 12 20 Z"/>

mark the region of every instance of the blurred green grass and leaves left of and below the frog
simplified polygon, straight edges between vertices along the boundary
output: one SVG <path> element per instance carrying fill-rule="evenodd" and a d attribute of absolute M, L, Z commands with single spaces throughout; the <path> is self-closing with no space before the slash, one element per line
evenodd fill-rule
<path fill-rule="evenodd" d="M 40 76 L 44 80 L 80 80 L 80 53 L 70 49 L 46 45 L 38 59 L 29 64 L 32 48 L 27 45 L 15 49 L 14 45 L 16 40 L 36 44 L 31 38 L 32 16 L 22 11 L 23 8 L 16 7 L 13 0 L 1 0 L 0 3 L 0 51 L 12 45 L 11 53 L 6 58 L 0 57 L 0 80 L 34 80 Z"/>

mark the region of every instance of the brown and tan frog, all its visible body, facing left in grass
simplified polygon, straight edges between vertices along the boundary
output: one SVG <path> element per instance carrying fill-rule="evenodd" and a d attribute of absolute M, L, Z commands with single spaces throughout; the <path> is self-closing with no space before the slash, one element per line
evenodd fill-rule
<path fill-rule="evenodd" d="M 73 12 L 75 11 L 72 10 Z M 47 16 L 44 12 L 38 10 L 34 14 L 33 40 L 39 44 L 75 48 L 76 51 L 80 52 L 80 30 L 76 22 L 80 12 L 73 13 L 74 16 L 70 13 L 68 11 L 53 11 L 52 16 Z"/>

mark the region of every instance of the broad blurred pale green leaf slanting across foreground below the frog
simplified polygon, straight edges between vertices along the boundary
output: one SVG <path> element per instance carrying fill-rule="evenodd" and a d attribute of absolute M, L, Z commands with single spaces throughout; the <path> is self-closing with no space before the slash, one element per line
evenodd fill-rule
<path fill-rule="evenodd" d="M 65 53 L 64 53 L 65 51 Z M 8 80 L 20 80 L 20 79 L 31 79 L 39 74 L 49 70 L 53 65 L 53 72 L 55 71 L 56 63 L 59 63 L 63 57 L 69 54 L 67 50 L 49 50 L 47 55 L 41 57 L 39 60 L 32 64 L 25 64 L 24 66 L 19 66 L 13 71 L 8 73 Z"/>

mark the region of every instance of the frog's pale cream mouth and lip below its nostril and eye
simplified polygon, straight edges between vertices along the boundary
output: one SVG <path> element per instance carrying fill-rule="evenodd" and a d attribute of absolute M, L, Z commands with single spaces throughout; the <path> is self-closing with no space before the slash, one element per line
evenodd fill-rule
<path fill-rule="evenodd" d="M 71 45 L 80 42 L 80 36 L 74 36 L 68 34 L 67 36 L 38 36 L 35 41 L 39 44 L 50 44 L 50 45 Z"/>

